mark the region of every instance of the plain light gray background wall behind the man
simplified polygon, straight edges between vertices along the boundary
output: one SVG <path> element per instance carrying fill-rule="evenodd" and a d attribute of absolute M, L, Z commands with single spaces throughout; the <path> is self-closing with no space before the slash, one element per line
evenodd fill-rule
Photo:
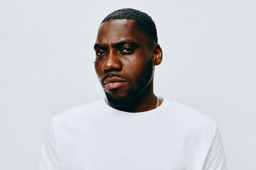
<path fill-rule="evenodd" d="M 256 2 L 0 0 L 0 169 L 35 169 L 50 119 L 104 96 L 97 28 L 124 7 L 149 13 L 164 51 L 155 92 L 217 121 L 228 168 L 256 169 Z"/>

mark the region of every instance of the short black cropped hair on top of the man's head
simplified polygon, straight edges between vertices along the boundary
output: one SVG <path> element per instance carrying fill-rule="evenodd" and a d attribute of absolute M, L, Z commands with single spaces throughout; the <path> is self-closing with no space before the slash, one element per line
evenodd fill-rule
<path fill-rule="evenodd" d="M 151 44 L 155 45 L 157 43 L 156 25 L 148 14 L 133 8 L 122 8 L 110 13 L 102 23 L 114 19 L 134 19 L 139 30 L 149 36 Z"/>

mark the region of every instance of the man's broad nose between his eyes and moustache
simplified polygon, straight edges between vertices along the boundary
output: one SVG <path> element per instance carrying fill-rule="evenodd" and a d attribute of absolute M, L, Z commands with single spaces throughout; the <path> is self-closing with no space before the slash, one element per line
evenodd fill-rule
<path fill-rule="evenodd" d="M 120 61 L 119 55 L 115 52 L 109 52 L 107 57 L 105 58 L 104 63 L 102 64 L 103 72 L 113 72 L 113 71 L 121 71 L 122 63 Z"/>

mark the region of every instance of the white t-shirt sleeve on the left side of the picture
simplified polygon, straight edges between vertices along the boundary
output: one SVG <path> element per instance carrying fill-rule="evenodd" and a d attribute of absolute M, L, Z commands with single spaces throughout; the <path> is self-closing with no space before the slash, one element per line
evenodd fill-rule
<path fill-rule="evenodd" d="M 55 147 L 55 135 L 53 120 L 50 122 L 48 133 L 41 147 L 41 156 L 39 158 L 36 170 L 58 170 L 58 159 Z"/>

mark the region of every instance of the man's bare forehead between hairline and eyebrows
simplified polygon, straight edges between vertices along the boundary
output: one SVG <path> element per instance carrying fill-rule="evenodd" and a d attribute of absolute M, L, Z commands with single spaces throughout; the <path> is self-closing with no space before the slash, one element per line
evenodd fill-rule
<path fill-rule="evenodd" d="M 96 43 L 115 43 L 122 40 L 148 41 L 133 19 L 114 19 L 100 25 Z"/>

